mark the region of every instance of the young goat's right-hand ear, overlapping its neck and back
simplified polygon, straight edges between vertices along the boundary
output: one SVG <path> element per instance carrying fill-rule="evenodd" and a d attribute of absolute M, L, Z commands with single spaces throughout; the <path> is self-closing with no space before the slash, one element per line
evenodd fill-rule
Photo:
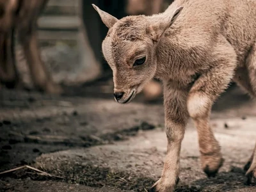
<path fill-rule="evenodd" d="M 161 24 L 159 24 L 159 26 L 157 26 L 157 28 L 156 28 L 156 26 L 150 26 L 150 31 L 152 31 L 151 35 L 152 35 L 152 39 L 154 40 L 154 42 L 158 42 L 159 39 L 161 39 L 161 37 L 166 32 L 166 30 L 168 28 L 170 28 L 170 26 L 172 26 L 172 24 L 175 22 L 177 17 L 179 17 L 182 9 L 183 9 L 183 7 L 180 6 L 179 8 L 177 8 L 177 10 L 175 10 L 175 12 L 172 13 L 172 15 L 170 15 L 168 17 L 166 17 L 166 14 L 163 14 L 163 16 L 164 16 L 163 22 L 161 22 Z"/>

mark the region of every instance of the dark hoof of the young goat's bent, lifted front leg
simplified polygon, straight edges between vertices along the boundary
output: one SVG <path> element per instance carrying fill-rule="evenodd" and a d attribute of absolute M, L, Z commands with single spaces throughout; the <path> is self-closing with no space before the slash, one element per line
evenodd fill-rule
<path fill-rule="evenodd" d="M 207 175 L 207 177 L 211 178 L 211 177 L 216 177 L 219 169 L 221 168 L 221 166 L 223 165 L 224 159 L 222 157 L 218 158 L 217 161 L 216 159 L 214 159 L 214 161 L 206 161 L 207 164 L 203 163 L 203 170 L 205 172 L 205 174 Z"/>

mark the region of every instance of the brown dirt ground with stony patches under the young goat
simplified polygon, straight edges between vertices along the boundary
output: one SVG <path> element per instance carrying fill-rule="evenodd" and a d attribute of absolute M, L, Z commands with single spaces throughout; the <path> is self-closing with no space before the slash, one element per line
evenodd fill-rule
<path fill-rule="evenodd" d="M 1 90 L 0 191 L 147 191 L 161 175 L 166 136 L 162 99 L 116 104 L 107 81 L 52 97 Z M 106 91 L 107 90 L 107 91 Z M 105 93 L 103 93 L 105 92 Z M 189 122 L 176 191 L 256 191 L 243 166 L 255 145 L 256 102 L 236 86 L 215 104 L 211 125 L 225 163 L 217 177 L 200 169 Z"/>

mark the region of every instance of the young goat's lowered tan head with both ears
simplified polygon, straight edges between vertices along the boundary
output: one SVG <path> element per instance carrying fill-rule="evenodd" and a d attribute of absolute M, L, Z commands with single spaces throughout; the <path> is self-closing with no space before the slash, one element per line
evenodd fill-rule
<path fill-rule="evenodd" d="M 117 102 L 130 102 L 157 70 L 157 43 L 182 8 L 173 14 L 156 15 L 159 23 L 152 23 L 145 15 L 116 19 L 93 4 L 104 24 L 109 28 L 102 42 L 102 51 L 113 70 L 114 95 Z M 151 17 L 154 17 L 151 16 Z"/>

